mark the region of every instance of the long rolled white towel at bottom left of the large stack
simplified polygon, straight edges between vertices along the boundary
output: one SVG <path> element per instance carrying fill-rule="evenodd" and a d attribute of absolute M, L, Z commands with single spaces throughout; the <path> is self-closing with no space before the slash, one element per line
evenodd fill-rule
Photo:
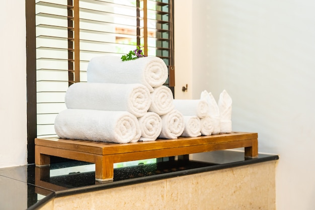
<path fill-rule="evenodd" d="M 65 109 L 55 119 L 61 138 L 99 142 L 138 141 L 141 132 L 137 118 L 127 111 Z"/>

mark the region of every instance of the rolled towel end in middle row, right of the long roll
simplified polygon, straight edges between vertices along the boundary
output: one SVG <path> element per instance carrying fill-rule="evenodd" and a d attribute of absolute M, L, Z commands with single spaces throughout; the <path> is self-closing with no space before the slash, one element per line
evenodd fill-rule
<path fill-rule="evenodd" d="M 167 114 L 174 109 L 173 100 L 173 93 L 169 87 L 160 86 L 153 88 L 149 111 L 159 115 Z"/>

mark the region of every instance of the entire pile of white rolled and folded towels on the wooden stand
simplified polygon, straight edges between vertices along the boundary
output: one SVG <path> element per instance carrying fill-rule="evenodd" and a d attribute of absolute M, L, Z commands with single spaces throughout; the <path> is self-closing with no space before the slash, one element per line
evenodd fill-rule
<path fill-rule="evenodd" d="M 227 93 L 220 96 L 221 116 L 216 115 L 219 108 L 211 93 L 203 92 L 199 100 L 174 100 L 171 89 L 163 85 L 168 69 L 161 58 L 95 57 L 87 74 L 88 83 L 68 88 L 67 109 L 55 119 L 61 138 L 132 143 L 211 135 L 216 132 L 215 117 L 224 124 L 221 132 L 230 130 Z"/>

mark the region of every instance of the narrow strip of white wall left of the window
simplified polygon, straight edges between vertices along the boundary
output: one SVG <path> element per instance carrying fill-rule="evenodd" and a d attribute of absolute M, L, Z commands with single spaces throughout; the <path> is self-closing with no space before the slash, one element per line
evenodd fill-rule
<path fill-rule="evenodd" d="M 25 165 L 27 161 L 25 1 L 2 1 L 0 26 L 0 168 L 3 168 Z"/>

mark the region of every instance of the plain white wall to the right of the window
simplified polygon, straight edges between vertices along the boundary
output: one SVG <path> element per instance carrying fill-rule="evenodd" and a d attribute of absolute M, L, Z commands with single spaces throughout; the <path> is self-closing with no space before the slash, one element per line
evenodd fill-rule
<path fill-rule="evenodd" d="M 192 4 L 192 98 L 208 90 L 218 99 L 226 89 L 233 99 L 233 130 L 258 132 L 259 152 L 280 156 L 280 210 L 315 206 L 313 11 L 311 0 Z"/>

